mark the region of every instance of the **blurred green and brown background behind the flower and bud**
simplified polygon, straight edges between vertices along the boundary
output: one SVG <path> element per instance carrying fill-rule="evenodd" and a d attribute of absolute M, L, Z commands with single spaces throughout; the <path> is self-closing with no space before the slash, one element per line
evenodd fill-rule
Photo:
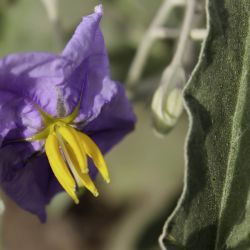
<path fill-rule="evenodd" d="M 100 1 L 59 0 L 59 23 L 52 25 L 40 0 L 0 0 L 0 57 L 20 51 L 59 53 L 81 17 Z M 112 78 L 124 83 L 141 39 L 162 1 L 103 0 L 102 31 Z M 168 25 L 179 27 L 183 9 L 176 8 Z M 56 29 L 56 30 L 55 30 Z M 83 193 L 75 206 L 59 194 L 48 206 L 48 221 L 19 209 L 4 197 L 2 242 L 8 250 L 155 250 L 168 215 L 183 186 L 186 114 L 164 138 L 152 129 L 150 102 L 176 39 L 161 39 L 152 47 L 133 100 L 136 130 L 107 156 L 111 183 L 97 178 L 99 198 Z M 200 43 L 189 47 L 190 74 Z M 190 58 L 189 58 L 190 59 Z M 190 63 L 192 62 L 192 63 Z M 3 195 L 4 196 L 4 195 Z"/>

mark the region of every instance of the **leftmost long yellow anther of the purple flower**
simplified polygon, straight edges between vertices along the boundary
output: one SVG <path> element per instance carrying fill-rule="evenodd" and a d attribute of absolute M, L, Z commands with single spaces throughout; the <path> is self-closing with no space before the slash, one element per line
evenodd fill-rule
<path fill-rule="evenodd" d="M 69 196 L 79 203 L 79 200 L 75 194 L 75 182 L 71 176 L 67 165 L 64 162 L 64 159 L 61 155 L 59 149 L 59 143 L 57 141 L 55 133 L 51 133 L 45 142 L 45 152 L 47 154 L 51 169 L 58 179 L 59 183 L 69 194 Z"/>

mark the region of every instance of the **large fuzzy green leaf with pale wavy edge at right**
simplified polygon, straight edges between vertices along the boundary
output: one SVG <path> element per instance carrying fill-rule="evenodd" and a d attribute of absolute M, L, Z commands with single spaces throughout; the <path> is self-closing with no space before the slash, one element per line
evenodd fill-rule
<path fill-rule="evenodd" d="M 250 249 L 250 1 L 210 0 L 208 10 L 209 34 L 184 92 L 184 191 L 162 249 Z"/>

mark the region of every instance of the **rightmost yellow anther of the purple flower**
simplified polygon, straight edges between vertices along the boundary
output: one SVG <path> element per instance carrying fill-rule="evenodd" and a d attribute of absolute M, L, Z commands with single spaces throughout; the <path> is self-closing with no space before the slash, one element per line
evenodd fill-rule
<path fill-rule="evenodd" d="M 95 166 L 101 173 L 103 179 L 107 183 L 109 183 L 110 182 L 109 172 L 104 157 L 102 155 L 102 152 L 89 136 L 80 132 L 77 132 L 77 134 L 81 138 L 81 143 L 87 155 L 92 158 Z"/>

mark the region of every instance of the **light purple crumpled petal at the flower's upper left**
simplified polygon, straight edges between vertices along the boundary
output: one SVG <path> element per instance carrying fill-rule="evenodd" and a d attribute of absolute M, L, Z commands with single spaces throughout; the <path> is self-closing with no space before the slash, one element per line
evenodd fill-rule
<path fill-rule="evenodd" d="M 0 60 L 0 137 L 21 128 L 28 137 L 41 128 L 34 102 L 56 114 L 57 85 L 64 79 L 62 65 L 66 63 L 47 53 L 13 54 Z"/>

